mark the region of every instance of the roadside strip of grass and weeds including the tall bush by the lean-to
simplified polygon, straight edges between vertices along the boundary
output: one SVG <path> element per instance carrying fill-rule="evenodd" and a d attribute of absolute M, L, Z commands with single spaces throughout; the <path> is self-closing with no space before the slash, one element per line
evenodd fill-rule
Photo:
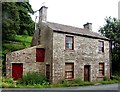
<path fill-rule="evenodd" d="M 32 74 L 32 75 L 31 75 Z M 36 77 L 39 76 L 39 77 Z M 35 78 L 35 79 L 34 79 Z M 40 79 L 39 79 L 40 78 Z M 1 78 L 3 88 L 60 88 L 60 87 L 74 87 L 74 86 L 87 86 L 87 85 L 98 85 L 98 84 L 113 84 L 119 83 L 119 80 L 106 80 L 106 81 L 96 81 L 96 82 L 85 82 L 80 78 L 75 80 L 63 80 L 57 84 L 49 84 L 46 78 L 39 73 L 29 73 L 27 78 L 23 80 L 13 81 L 12 78 Z M 32 80 L 32 81 L 31 81 Z M 33 81 L 34 80 L 34 81 Z M 38 81 L 40 82 L 38 82 Z M 36 82 L 37 81 L 37 82 Z M 35 83 L 36 82 L 36 83 Z"/>

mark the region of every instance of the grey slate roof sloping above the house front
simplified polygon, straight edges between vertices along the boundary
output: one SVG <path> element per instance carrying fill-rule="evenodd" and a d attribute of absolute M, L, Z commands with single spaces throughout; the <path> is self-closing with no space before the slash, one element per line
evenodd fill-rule
<path fill-rule="evenodd" d="M 99 33 L 85 30 L 85 29 L 78 28 L 78 27 L 73 27 L 73 26 L 68 26 L 68 25 L 63 25 L 63 24 L 58 24 L 58 23 L 52 23 L 52 22 L 47 22 L 47 25 L 55 32 L 69 33 L 69 34 L 74 34 L 74 35 L 87 36 L 90 38 L 97 38 L 97 39 L 100 38 L 104 40 L 109 40 L 108 38 L 100 35 Z"/>

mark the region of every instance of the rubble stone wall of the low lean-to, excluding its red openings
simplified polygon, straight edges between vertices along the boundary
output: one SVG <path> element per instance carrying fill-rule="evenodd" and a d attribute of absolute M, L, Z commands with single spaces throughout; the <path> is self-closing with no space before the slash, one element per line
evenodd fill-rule
<path fill-rule="evenodd" d="M 8 53 L 6 55 L 6 76 L 12 77 L 12 63 L 23 63 L 23 75 L 33 71 L 44 74 L 45 62 L 36 62 L 36 48 L 41 48 L 41 46 Z"/>

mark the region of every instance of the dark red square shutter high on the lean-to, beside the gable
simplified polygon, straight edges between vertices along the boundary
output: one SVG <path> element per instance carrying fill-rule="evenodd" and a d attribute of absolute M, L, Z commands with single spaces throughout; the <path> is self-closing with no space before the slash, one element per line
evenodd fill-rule
<path fill-rule="evenodd" d="M 45 50 L 43 48 L 36 48 L 36 62 L 44 62 Z"/>

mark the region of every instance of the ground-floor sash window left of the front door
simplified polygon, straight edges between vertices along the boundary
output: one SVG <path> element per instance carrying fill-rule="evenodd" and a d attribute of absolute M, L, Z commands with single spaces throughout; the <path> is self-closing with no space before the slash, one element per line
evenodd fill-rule
<path fill-rule="evenodd" d="M 74 78 L 74 63 L 65 63 L 65 79 Z"/>

